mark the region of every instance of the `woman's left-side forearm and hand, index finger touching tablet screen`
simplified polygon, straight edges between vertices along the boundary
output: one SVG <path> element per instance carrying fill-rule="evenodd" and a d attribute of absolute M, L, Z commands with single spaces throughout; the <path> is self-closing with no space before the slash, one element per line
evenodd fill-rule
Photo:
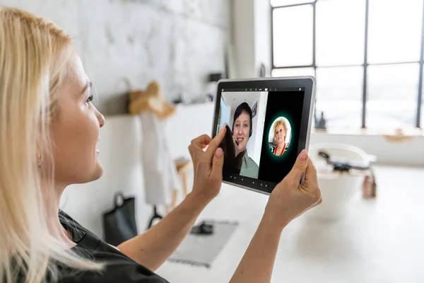
<path fill-rule="evenodd" d="M 158 224 L 119 245 L 122 253 L 153 271 L 172 255 L 200 212 L 220 191 L 224 157 L 218 145 L 224 136 L 225 128 L 214 139 L 203 135 L 192 141 L 189 146 L 194 163 L 192 192 Z"/>

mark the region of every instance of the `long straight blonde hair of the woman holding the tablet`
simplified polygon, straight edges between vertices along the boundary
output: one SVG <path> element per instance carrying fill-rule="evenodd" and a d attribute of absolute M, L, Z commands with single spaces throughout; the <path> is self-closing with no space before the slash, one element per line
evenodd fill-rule
<path fill-rule="evenodd" d="M 49 122 L 73 54 L 71 37 L 54 23 L 0 6 L 0 282 L 55 280 L 59 265 L 102 267 L 47 223 L 57 201 Z"/>

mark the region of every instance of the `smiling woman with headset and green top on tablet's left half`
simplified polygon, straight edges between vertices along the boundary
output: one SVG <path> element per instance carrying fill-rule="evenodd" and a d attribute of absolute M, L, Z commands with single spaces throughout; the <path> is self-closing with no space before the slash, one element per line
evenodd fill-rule
<path fill-rule="evenodd" d="M 242 103 L 237 106 L 232 122 L 232 139 L 234 139 L 235 156 L 243 154 L 240 175 L 258 178 L 259 166 L 247 155 L 247 141 L 252 137 L 252 110 L 249 104 Z"/>

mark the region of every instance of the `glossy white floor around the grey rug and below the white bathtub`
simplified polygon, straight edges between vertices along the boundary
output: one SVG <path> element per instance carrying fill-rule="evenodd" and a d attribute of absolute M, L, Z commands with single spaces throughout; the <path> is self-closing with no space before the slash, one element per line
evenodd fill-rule
<path fill-rule="evenodd" d="M 424 168 L 377 166 L 377 198 L 355 195 L 339 221 L 303 216 L 283 231 L 272 282 L 424 282 Z M 223 185 L 199 217 L 240 225 L 211 269 L 165 262 L 170 282 L 228 282 L 268 197 Z M 325 202 L 325 200 L 324 200 Z"/>

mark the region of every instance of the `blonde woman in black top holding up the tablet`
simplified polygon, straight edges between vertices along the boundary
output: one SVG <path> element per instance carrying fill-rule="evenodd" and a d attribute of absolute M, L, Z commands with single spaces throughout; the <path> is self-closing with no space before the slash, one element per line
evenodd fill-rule
<path fill-rule="evenodd" d="M 96 144 L 105 118 L 90 86 L 64 30 L 0 7 L 0 282 L 167 282 L 154 270 L 220 191 L 225 129 L 192 141 L 192 192 L 139 236 L 113 247 L 61 211 L 67 186 L 102 175 Z M 320 200 L 303 151 L 269 197 L 231 282 L 269 282 L 284 227 Z"/>

